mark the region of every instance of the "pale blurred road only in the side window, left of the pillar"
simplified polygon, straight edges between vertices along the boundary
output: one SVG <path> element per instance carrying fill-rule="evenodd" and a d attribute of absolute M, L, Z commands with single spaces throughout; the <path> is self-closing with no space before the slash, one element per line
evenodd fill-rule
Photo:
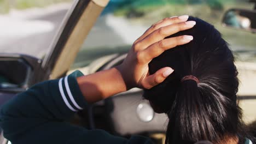
<path fill-rule="evenodd" d="M 57 7 L 60 7 L 58 5 Z M 0 16 L 0 52 L 43 57 L 65 16 L 68 5 L 56 10 L 15 11 Z"/>

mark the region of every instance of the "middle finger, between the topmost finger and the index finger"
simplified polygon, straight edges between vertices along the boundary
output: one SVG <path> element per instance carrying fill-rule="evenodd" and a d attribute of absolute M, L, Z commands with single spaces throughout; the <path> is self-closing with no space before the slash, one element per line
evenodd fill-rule
<path fill-rule="evenodd" d="M 146 38 L 143 40 L 139 41 L 137 45 L 138 50 L 146 49 L 149 45 L 152 45 L 156 43 L 157 41 L 160 41 L 164 39 L 165 37 L 168 37 L 174 33 L 177 33 L 179 31 L 184 31 L 187 29 L 190 29 L 194 27 L 196 24 L 195 21 L 187 21 L 187 22 L 182 22 L 182 23 L 176 23 L 174 25 L 168 25 L 165 27 L 161 27 L 157 30 L 155 30 L 153 33 L 149 34 Z"/>

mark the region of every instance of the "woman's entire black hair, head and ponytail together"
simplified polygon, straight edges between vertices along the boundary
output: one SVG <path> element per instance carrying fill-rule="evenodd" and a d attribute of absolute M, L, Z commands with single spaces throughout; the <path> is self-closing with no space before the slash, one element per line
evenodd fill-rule
<path fill-rule="evenodd" d="M 186 34 L 194 40 L 149 63 L 150 74 L 163 67 L 173 68 L 174 73 L 160 85 L 144 90 L 143 96 L 169 118 L 166 144 L 230 139 L 243 143 L 247 135 L 236 103 L 238 80 L 232 52 L 212 25 L 194 17 L 189 20 L 196 21 L 194 28 L 170 37 Z M 199 81 L 181 81 L 188 75 Z"/>

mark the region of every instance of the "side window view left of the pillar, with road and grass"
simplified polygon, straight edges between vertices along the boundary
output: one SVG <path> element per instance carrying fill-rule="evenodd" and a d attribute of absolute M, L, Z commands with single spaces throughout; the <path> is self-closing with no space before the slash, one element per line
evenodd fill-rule
<path fill-rule="evenodd" d="M 0 52 L 43 58 L 73 0 L 0 0 Z"/>

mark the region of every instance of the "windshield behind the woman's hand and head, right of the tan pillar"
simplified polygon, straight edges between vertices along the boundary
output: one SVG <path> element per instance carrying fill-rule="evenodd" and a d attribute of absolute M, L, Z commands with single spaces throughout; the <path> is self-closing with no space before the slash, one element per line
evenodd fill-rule
<path fill-rule="evenodd" d="M 85 67 L 106 55 L 127 52 L 133 41 L 154 22 L 184 14 L 212 23 L 228 41 L 238 61 L 255 62 L 256 34 L 222 26 L 226 10 L 253 7 L 252 3 L 237 0 L 111 0 L 84 41 L 71 69 Z"/>

